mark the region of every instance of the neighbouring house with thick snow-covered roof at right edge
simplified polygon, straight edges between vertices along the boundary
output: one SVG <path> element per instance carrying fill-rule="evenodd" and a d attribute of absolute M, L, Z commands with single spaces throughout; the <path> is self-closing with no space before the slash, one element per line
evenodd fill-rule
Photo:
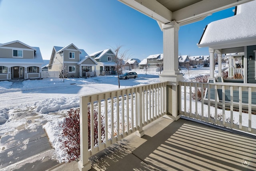
<path fill-rule="evenodd" d="M 210 52 L 210 78 L 208 82 L 231 82 L 241 84 L 256 83 L 256 1 L 248 2 L 236 7 L 235 15 L 211 22 L 204 29 L 204 33 L 198 43 L 198 47 L 208 47 Z M 214 35 L 214 36 L 212 36 Z M 214 76 L 214 56 L 218 55 L 218 64 L 222 62 L 222 55 L 229 56 L 230 64 L 228 66 L 228 78 L 222 74 L 222 65 L 219 65 L 218 75 Z M 229 54 L 229 55 L 228 55 Z M 234 55 L 235 54 L 235 55 Z M 236 65 L 234 56 L 239 56 L 240 64 Z M 233 64 L 232 64 L 233 63 Z M 239 74 L 238 70 L 243 70 Z M 252 85 L 254 86 L 254 85 Z M 211 99 L 215 98 L 214 93 Z M 226 99 L 230 99 L 226 89 Z M 218 97 L 215 99 L 222 100 L 222 89 L 218 89 Z M 238 90 L 234 90 L 234 101 L 238 101 Z M 208 95 L 208 94 L 206 94 Z M 248 91 L 242 91 L 242 103 Z M 248 98 L 247 98 L 248 99 Z M 252 101 L 256 101 L 256 92 L 252 92 Z"/>

